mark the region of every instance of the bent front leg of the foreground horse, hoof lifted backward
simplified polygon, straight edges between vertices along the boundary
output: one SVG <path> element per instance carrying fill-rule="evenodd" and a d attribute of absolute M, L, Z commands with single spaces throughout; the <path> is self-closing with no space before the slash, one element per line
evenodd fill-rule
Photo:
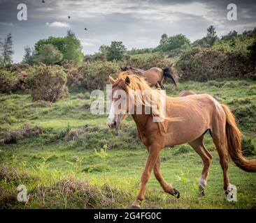
<path fill-rule="evenodd" d="M 178 190 L 171 187 L 171 185 L 169 185 L 169 183 L 166 183 L 166 181 L 164 180 L 161 170 L 160 170 L 160 157 L 159 156 L 157 157 L 157 161 L 155 162 L 154 174 L 155 174 L 155 178 L 157 178 L 158 182 L 162 186 L 164 192 L 169 193 L 171 195 L 177 194 L 177 197 L 180 196 Z"/>

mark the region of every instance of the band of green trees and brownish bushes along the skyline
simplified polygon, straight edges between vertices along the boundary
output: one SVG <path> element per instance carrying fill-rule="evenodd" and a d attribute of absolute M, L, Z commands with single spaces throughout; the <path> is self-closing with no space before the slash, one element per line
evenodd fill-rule
<path fill-rule="evenodd" d="M 180 81 L 204 82 L 229 77 L 256 79 L 256 29 L 241 34 L 231 31 L 218 38 L 215 28 L 210 26 L 206 36 L 194 43 L 182 34 L 164 34 L 155 49 L 127 51 L 122 42 L 114 41 L 110 46 L 102 45 L 100 52 L 85 57 L 80 40 L 68 31 L 64 38 L 50 37 L 38 40 L 34 49 L 26 47 L 20 64 L 11 64 L 11 35 L 0 42 L 0 92 L 28 89 L 35 94 L 40 91 L 44 97 L 49 95 L 44 91 L 51 88 L 48 80 L 52 80 L 56 86 L 52 86 L 50 92 L 56 91 L 57 95 L 49 95 L 50 100 L 61 98 L 59 93 L 65 95 L 68 87 L 104 89 L 108 75 L 118 75 L 120 66 L 141 69 L 172 66 Z M 45 89 L 31 89 L 32 85 L 45 86 Z"/>

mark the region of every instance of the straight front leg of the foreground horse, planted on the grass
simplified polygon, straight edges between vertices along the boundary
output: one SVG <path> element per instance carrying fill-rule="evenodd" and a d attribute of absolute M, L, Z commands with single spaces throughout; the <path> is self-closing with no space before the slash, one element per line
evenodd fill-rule
<path fill-rule="evenodd" d="M 138 192 L 138 196 L 136 197 L 136 200 L 132 204 L 131 208 L 141 207 L 141 201 L 145 199 L 145 185 L 148 183 L 148 179 L 150 178 L 151 171 L 155 166 L 155 162 L 157 161 L 160 150 L 161 147 L 158 144 L 152 144 L 151 146 L 148 146 L 149 154 L 147 163 L 145 164 L 145 169 L 141 175 L 141 189 Z"/>

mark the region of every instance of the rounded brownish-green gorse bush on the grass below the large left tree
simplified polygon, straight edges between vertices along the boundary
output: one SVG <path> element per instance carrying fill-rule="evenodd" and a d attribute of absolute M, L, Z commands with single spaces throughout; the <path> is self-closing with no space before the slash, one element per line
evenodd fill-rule
<path fill-rule="evenodd" d="M 56 102 L 67 95 L 66 73 L 60 66 L 33 66 L 29 73 L 32 100 Z"/>

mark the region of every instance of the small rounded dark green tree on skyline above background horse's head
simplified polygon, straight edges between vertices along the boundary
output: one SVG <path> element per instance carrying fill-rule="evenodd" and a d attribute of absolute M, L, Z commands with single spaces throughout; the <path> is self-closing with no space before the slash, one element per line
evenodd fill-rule
<path fill-rule="evenodd" d="M 122 60 L 122 56 L 124 56 L 126 51 L 125 45 L 122 42 L 113 41 L 111 42 L 111 46 L 106 47 L 106 59 L 108 61 Z"/>

